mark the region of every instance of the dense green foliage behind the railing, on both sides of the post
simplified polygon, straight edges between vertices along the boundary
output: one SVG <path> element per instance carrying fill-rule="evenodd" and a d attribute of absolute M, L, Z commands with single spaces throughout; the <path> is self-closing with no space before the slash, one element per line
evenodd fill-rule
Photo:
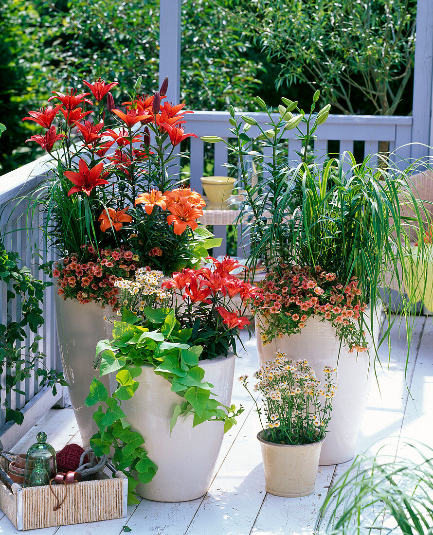
<path fill-rule="evenodd" d="M 392 34 L 399 20 L 405 21 L 405 27 L 411 26 L 416 2 L 394 0 L 390 14 L 385 4 L 385 0 L 182 0 L 181 100 L 189 109 L 226 110 L 231 103 L 236 109 L 254 111 L 256 95 L 272 106 L 288 96 L 305 107 L 317 81 L 322 95 L 335 104 L 331 111 L 341 113 L 335 88 L 339 81 L 347 85 L 339 76 L 345 62 L 352 58 L 355 82 L 374 68 L 369 58 L 377 59 L 383 50 L 391 50 L 392 71 L 397 76 L 399 69 L 404 71 L 404 62 L 412 63 L 413 54 L 404 48 L 404 39 L 399 38 L 395 47 L 389 38 L 391 45 L 384 47 L 386 39 L 376 37 L 382 35 L 382 28 L 391 28 Z M 0 118 L 7 127 L 0 145 L 3 172 L 42 154 L 35 143 L 26 145 L 36 127 L 28 121 L 21 123 L 21 118 L 43 105 L 52 90 L 80 87 L 83 78 L 101 76 L 119 82 L 113 96 L 120 103 L 139 75 L 143 88 L 156 89 L 158 6 L 159 0 L 0 3 Z M 312 10 L 311 17 L 308 10 Z M 370 16 L 366 19 L 365 10 L 374 14 L 374 24 L 370 24 Z M 337 11 L 347 16 L 344 25 L 349 29 L 335 23 L 332 13 Z M 355 25 L 350 17 L 356 13 Z M 369 39 L 356 39 L 361 48 L 353 55 L 339 32 L 362 33 L 364 24 Z M 291 28 L 299 37 L 295 42 L 287 39 L 293 33 Z M 323 50 L 330 45 L 338 68 L 332 76 L 325 69 L 323 79 L 315 80 L 312 64 L 318 60 L 322 68 Z M 328 87 L 324 81 L 329 81 Z M 411 93 L 412 79 L 394 113 L 411 111 Z M 374 103 L 360 91 L 352 90 L 351 99 L 355 113 L 377 113 Z"/>

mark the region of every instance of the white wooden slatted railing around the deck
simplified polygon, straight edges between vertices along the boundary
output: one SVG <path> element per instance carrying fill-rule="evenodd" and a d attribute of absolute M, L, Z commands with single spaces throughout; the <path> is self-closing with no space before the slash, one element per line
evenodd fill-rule
<path fill-rule="evenodd" d="M 267 121 L 264 113 L 249 113 L 250 117 L 257 120 L 263 127 Z M 196 111 L 194 114 L 187 116 L 187 132 L 195 133 L 199 139 L 191 138 L 191 185 L 199 192 L 201 189 L 200 177 L 203 176 L 204 168 L 204 143 L 200 140 L 204 135 L 218 135 L 228 139 L 230 133 L 229 114 L 226 112 L 207 112 Z M 371 116 L 330 116 L 326 123 L 317 131 L 317 140 L 314 147 L 319 154 L 323 156 L 328 151 L 328 141 L 339 141 L 339 151 L 353 151 L 353 142 L 362 141 L 364 143 L 364 155 L 375 153 L 378 150 L 380 141 L 390 143 L 390 151 L 395 151 L 392 156 L 393 161 L 400 167 L 406 167 L 408 164 L 405 160 L 411 158 L 411 117 L 371 117 Z M 249 131 L 251 135 L 258 135 L 257 128 L 252 127 Z M 294 140 L 293 131 L 286 132 L 288 143 L 288 158 L 296 159 L 296 152 L 300 150 L 300 142 Z M 223 143 L 217 143 L 214 146 L 214 170 L 210 174 L 226 175 L 227 168 L 223 166 L 227 162 L 227 148 Z M 266 156 L 266 152 L 265 152 Z M 37 271 L 36 264 L 45 261 L 46 255 L 42 258 L 34 256 L 34 244 L 36 248 L 43 250 L 42 231 L 37 227 L 37 221 L 31 221 L 26 225 L 25 216 L 22 215 L 26 205 L 21 202 L 17 205 L 17 199 L 31 194 L 32 190 L 42 180 L 47 173 L 47 158 L 41 158 L 36 162 L 27 164 L 19 169 L 0 177 L 0 211 L 3 210 L 0 219 L 0 231 L 5 238 L 7 249 L 17 251 L 23 263 L 34 270 L 37 277 L 43 277 L 42 272 Z M 27 227 L 35 227 L 33 233 L 29 233 Z M 214 254 L 225 253 L 225 243 L 227 236 L 227 227 L 225 225 L 215 225 L 214 233 L 216 236 L 223 238 L 223 245 L 219 251 L 214 250 Z M 242 254 L 240 252 L 240 254 Z M 7 313 L 12 318 L 17 317 L 18 306 L 13 310 L 6 311 L 6 287 L 3 285 L 0 291 L 0 318 L 2 323 L 5 322 Z M 45 323 L 40 328 L 41 350 L 47 355 L 46 364 L 49 367 L 59 369 L 61 364 L 59 360 L 58 344 L 55 328 L 54 312 L 54 288 L 47 289 L 43 305 Z M 29 332 L 29 339 L 31 333 Z M 5 384 L 5 373 L 0 377 L 2 386 Z M 9 402 L 11 407 L 23 408 L 25 411 L 25 421 L 22 426 L 5 423 L 5 389 L 0 391 L 0 438 L 5 447 L 10 447 L 19 440 L 29 427 L 37 419 L 43 416 L 44 412 L 54 403 L 63 400 L 63 389 L 59 388 L 56 397 L 53 397 L 51 391 L 44 388 L 39 390 L 37 381 L 34 377 L 23 381 L 21 385 L 25 395 L 11 395 Z"/>

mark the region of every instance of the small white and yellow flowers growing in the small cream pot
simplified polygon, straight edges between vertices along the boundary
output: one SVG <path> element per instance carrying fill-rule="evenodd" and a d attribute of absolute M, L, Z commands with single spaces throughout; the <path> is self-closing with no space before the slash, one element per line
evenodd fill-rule
<path fill-rule="evenodd" d="M 254 373 L 258 380 L 254 390 L 262 396 L 265 427 L 257 403 L 256 407 L 266 440 L 276 444 L 311 444 L 322 440 L 331 419 L 336 390 L 331 375 L 335 371 L 331 366 L 325 366 L 325 381 L 321 384 L 303 358 L 294 362 L 286 353 L 276 353 L 276 358 L 265 362 Z M 248 376 L 238 379 L 255 400 L 247 386 Z"/>

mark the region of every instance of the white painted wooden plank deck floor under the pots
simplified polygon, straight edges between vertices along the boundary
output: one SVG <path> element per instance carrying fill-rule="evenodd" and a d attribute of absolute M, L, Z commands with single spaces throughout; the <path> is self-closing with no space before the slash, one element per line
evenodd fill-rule
<path fill-rule="evenodd" d="M 391 360 L 388 347 L 379 351 L 383 371 L 378 371 L 379 387 L 371 388 L 367 410 L 358 438 L 357 451 L 374 445 L 390 444 L 391 437 L 413 438 L 433 445 L 433 321 L 417 318 L 405 379 L 406 333 L 392 331 Z M 257 369 L 254 338 L 245 342 L 247 354 L 237 359 L 235 378 Z M 306 355 L 308 359 L 308 356 Z M 128 507 L 126 518 L 32 530 L 38 535 L 120 535 L 123 526 L 133 534 L 149 535 L 312 535 L 318 510 L 329 487 L 350 463 L 319 469 L 316 492 L 304 498 L 278 498 L 264 490 L 264 475 L 259 442 L 260 429 L 253 402 L 235 380 L 233 403 L 242 403 L 245 412 L 224 437 L 214 480 L 203 499 L 184 503 L 158 503 L 142 500 Z M 62 448 L 67 442 L 80 442 L 72 409 L 51 409 L 14 448 L 24 452 L 35 441 L 37 431 L 47 432 L 49 442 Z M 22 533 L 0 511 L 0 534 Z"/>

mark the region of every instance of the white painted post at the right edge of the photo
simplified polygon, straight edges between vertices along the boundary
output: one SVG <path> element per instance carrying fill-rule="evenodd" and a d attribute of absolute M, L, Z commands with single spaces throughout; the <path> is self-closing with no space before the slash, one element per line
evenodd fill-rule
<path fill-rule="evenodd" d="M 412 143 L 431 144 L 431 109 L 433 104 L 433 2 L 418 0 L 413 88 Z M 412 158 L 429 153 L 426 147 L 413 145 Z"/>

